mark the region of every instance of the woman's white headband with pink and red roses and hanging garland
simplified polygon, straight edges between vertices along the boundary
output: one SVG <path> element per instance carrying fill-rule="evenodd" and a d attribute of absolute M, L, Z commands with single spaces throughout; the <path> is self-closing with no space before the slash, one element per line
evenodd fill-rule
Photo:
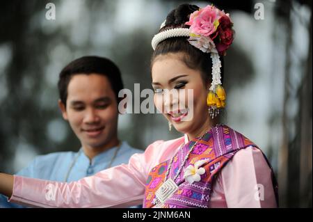
<path fill-rule="evenodd" d="M 229 14 L 215 6 L 206 6 L 191 13 L 185 23 L 189 28 L 174 28 L 161 31 L 152 38 L 152 48 L 155 50 L 159 42 L 167 38 L 189 37 L 188 42 L 204 53 L 210 53 L 212 60 L 212 82 L 207 95 L 207 106 L 211 118 L 218 116 L 219 109 L 225 107 L 226 94 L 220 81 L 220 56 L 225 56 L 226 50 L 234 40 L 233 23 Z M 160 29 L 165 26 L 161 24 Z"/>

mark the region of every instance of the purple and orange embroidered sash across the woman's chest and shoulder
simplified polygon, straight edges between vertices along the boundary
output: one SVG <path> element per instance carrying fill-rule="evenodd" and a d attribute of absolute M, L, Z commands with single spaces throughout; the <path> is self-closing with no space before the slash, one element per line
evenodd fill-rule
<path fill-rule="evenodd" d="M 198 138 L 195 138 L 193 141 L 189 141 L 189 143 L 184 145 L 175 154 L 168 177 L 175 177 L 180 164 L 182 164 L 184 157 L 188 153 L 188 150 L 190 150 L 197 139 Z M 202 166 L 205 169 L 205 173 L 201 175 L 200 182 L 193 182 L 192 184 L 189 184 L 186 180 L 184 180 L 184 171 L 182 171 L 177 177 L 177 180 L 175 180 L 179 189 L 170 198 L 168 198 L 168 200 L 166 200 L 163 207 L 207 208 L 209 206 L 214 177 L 218 175 L 218 173 L 227 164 L 227 162 L 232 159 L 236 152 L 249 146 L 257 148 L 257 145 L 230 127 L 219 125 L 212 128 L 203 136 L 202 140 L 195 145 L 184 166 L 184 168 L 186 168 L 190 164 L 195 164 L 196 161 L 207 159 L 207 163 Z M 145 187 L 143 207 L 153 207 L 155 205 L 155 192 L 163 183 L 169 163 L 170 160 L 164 161 L 163 163 L 152 168 L 150 171 Z M 270 165 L 268 164 L 268 166 Z M 273 177 L 273 186 L 277 195 L 278 186 L 275 181 L 275 177 Z"/>

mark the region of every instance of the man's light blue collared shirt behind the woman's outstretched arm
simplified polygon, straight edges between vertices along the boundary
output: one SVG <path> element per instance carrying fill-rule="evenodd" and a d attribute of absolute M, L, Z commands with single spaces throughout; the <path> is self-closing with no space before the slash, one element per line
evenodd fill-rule
<path fill-rule="evenodd" d="M 122 142 L 120 148 L 114 147 L 98 154 L 91 161 L 82 149 L 79 152 L 54 152 L 35 157 L 29 166 L 16 175 L 57 182 L 72 182 L 94 175 L 111 166 L 127 164 L 129 157 L 138 152 L 143 152 L 143 150 L 131 148 L 127 142 Z M 0 208 L 3 207 L 22 206 L 8 203 L 8 198 L 0 195 Z"/>

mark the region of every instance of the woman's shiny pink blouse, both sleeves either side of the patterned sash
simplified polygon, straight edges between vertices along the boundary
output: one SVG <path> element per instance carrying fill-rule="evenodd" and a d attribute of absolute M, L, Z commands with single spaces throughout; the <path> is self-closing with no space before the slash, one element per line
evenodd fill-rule
<path fill-rule="evenodd" d="M 177 152 L 184 137 L 156 141 L 129 164 L 115 166 L 78 182 L 62 183 L 15 175 L 11 202 L 38 207 L 129 207 L 143 202 L 150 170 Z M 256 184 L 264 200 L 255 200 Z M 275 207 L 271 171 L 262 152 L 240 150 L 223 168 L 211 194 L 211 207 Z"/>

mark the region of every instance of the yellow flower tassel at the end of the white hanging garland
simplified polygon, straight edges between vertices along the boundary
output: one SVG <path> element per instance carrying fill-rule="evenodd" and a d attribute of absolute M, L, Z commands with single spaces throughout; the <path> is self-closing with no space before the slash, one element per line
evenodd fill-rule
<path fill-rule="evenodd" d="M 214 90 L 209 90 L 207 94 L 207 106 L 209 106 L 209 116 L 213 119 L 218 116 L 220 109 L 225 108 L 226 93 L 220 84 Z"/>

